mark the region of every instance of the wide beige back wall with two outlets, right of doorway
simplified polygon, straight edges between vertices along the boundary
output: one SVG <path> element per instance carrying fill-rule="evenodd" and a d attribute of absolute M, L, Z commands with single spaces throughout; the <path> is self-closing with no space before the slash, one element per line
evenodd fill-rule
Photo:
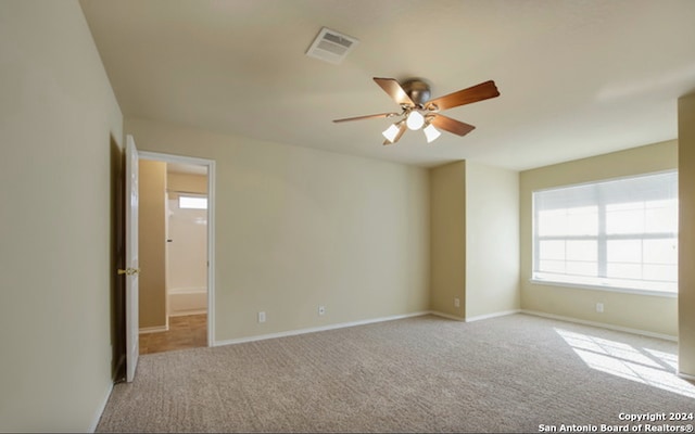
<path fill-rule="evenodd" d="M 428 309 L 426 169 L 143 119 L 126 130 L 141 150 L 216 162 L 217 341 Z"/>

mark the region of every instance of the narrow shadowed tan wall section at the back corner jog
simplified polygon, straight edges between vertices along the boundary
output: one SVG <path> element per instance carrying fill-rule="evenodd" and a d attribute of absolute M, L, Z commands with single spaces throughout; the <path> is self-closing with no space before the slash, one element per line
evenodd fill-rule
<path fill-rule="evenodd" d="M 430 169 L 430 307 L 466 314 L 466 162 Z M 459 299 L 459 307 L 454 305 Z"/>

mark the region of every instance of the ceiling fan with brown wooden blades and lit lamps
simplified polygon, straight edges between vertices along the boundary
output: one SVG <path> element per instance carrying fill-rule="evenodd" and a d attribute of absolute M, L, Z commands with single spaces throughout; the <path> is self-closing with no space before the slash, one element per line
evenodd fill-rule
<path fill-rule="evenodd" d="M 452 119 L 451 117 L 442 115 L 440 112 L 500 95 L 500 91 L 493 80 L 488 80 L 433 100 L 430 100 L 429 85 L 421 79 L 414 78 L 402 84 L 394 78 L 374 77 L 374 80 L 389 97 L 401 105 L 401 112 L 348 117 L 344 119 L 334 119 L 333 122 L 343 123 L 378 117 L 401 117 L 399 122 L 383 131 L 383 137 L 387 138 L 383 144 L 397 142 L 406 129 L 417 130 L 421 128 L 428 143 L 441 135 L 437 128 L 454 135 L 466 136 L 476 127 Z"/>

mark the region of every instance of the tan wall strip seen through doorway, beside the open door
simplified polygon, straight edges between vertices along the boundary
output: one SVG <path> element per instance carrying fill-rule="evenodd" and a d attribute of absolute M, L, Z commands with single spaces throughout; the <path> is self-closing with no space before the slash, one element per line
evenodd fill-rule
<path fill-rule="evenodd" d="M 164 328 L 167 326 L 166 163 L 140 159 L 139 166 L 140 329 Z"/>

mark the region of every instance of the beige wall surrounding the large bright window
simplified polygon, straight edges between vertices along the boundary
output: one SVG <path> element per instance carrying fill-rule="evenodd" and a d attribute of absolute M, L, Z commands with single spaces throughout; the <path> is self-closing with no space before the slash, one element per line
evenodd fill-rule
<path fill-rule="evenodd" d="M 675 141 L 661 142 L 591 158 L 526 170 L 520 174 L 521 308 L 607 323 L 656 334 L 678 335 L 677 298 L 599 290 L 542 285 L 530 282 L 534 190 L 596 181 L 678 167 Z M 596 312 L 596 303 L 604 312 Z"/>

